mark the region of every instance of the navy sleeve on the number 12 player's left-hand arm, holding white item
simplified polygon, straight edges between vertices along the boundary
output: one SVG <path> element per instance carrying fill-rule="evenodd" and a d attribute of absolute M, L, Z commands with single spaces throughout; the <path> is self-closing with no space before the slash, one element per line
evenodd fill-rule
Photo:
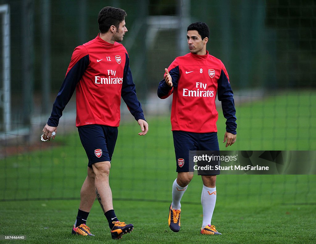
<path fill-rule="evenodd" d="M 89 55 L 82 57 L 67 73 L 53 105 L 51 117 L 47 125 L 58 126 L 59 119 L 63 115 L 64 108 L 73 95 L 77 83 L 89 65 Z"/>

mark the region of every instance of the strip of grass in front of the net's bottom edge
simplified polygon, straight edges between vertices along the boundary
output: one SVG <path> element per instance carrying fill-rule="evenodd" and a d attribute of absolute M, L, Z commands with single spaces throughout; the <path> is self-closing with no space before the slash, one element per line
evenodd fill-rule
<path fill-rule="evenodd" d="M 134 224 L 134 231 L 119 240 L 122 243 L 315 243 L 315 206 L 311 205 L 258 206 L 249 200 L 248 204 L 232 202 L 221 206 L 219 201 L 212 221 L 222 235 L 205 236 L 199 234 L 199 204 L 182 204 L 181 230 L 174 233 L 167 222 L 170 203 L 113 203 L 120 220 Z M 78 204 L 77 200 L 2 202 L 2 235 L 25 235 L 27 239 L 19 241 L 22 243 L 116 242 L 111 239 L 98 202 L 87 223 L 96 236 L 71 235 Z"/>

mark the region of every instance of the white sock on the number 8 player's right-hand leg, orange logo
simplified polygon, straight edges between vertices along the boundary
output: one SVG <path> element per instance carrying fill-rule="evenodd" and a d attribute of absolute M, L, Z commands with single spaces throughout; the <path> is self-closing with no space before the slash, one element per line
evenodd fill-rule
<path fill-rule="evenodd" d="M 203 207 L 202 228 L 204 228 L 206 225 L 211 224 L 216 203 L 216 187 L 210 188 L 203 185 L 201 203 Z"/>

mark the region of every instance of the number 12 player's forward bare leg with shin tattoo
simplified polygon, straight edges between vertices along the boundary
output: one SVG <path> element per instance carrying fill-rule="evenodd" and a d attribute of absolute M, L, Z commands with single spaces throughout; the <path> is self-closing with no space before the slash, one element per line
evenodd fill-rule
<path fill-rule="evenodd" d="M 113 209 L 112 192 L 109 185 L 111 163 L 109 161 L 92 164 L 94 190 L 103 212 Z"/>

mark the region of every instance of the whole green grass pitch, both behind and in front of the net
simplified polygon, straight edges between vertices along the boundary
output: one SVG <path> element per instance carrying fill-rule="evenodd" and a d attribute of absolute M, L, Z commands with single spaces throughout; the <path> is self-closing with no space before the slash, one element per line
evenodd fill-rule
<path fill-rule="evenodd" d="M 311 101 L 316 101 L 315 93 L 288 93 L 237 106 L 237 142 L 229 149 L 315 150 L 311 135 L 316 109 Z M 145 137 L 137 135 L 134 120 L 122 122 L 112 158 L 114 209 L 120 221 L 135 228 L 121 242 L 315 243 L 315 175 L 218 176 L 212 224 L 221 236 L 199 234 L 202 180 L 194 176 L 181 201 L 181 230 L 173 233 L 167 224 L 176 178 L 170 120 L 147 119 Z M 221 112 L 217 124 L 220 148 L 225 149 Z M 1 235 L 25 235 L 26 240 L 16 241 L 23 243 L 113 242 L 97 201 L 87 222 L 96 236 L 71 235 L 87 166 L 78 134 L 59 134 L 46 143 L 51 148 L 0 161 Z"/>

